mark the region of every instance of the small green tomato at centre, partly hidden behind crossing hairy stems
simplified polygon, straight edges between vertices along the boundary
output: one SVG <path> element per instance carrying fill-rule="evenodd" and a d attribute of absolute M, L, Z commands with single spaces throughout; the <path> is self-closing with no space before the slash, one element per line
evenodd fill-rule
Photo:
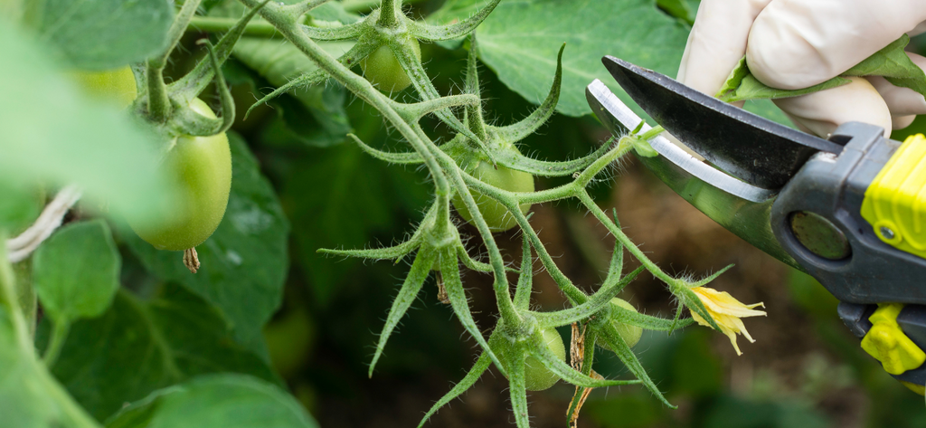
<path fill-rule="evenodd" d="M 481 160 L 478 161 L 475 169 L 468 172 L 483 183 L 494 185 L 509 192 L 533 192 L 534 189 L 533 175 L 531 173 L 512 170 L 504 165 L 498 165 L 498 168 L 495 169 L 491 163 Z M 482 213 L 482 218 L 489 225 L 490 231 L 505 232 L 518 224 L 518 221 L 508 212 L 508 209 L 493 198 L 476 191 L 472 191 L 472 197 L 476 200 L 476 206 L 479 207 L 479 212 Z M 454 195 L 451 201 L 454 207 L 457 208 L 460 217 L 472 223 L 472 214 L 469 212 L 469 208 L 463 204 L 463 198 L 460 195 Z M 521 214 L 527 214 L 531 209 L 531 204 L 521 204 L 519 208 Z"/>

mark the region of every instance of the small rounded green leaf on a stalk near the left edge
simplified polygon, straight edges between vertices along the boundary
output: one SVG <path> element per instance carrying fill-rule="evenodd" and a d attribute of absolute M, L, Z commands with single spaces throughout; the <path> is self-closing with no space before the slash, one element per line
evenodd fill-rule
<path fill-rule="evenodd" d="M 32 256 L 32 281 L 56 322 L 94 318 L 119 289 L 122 258 L 103 220 L 69 224 Z"/>

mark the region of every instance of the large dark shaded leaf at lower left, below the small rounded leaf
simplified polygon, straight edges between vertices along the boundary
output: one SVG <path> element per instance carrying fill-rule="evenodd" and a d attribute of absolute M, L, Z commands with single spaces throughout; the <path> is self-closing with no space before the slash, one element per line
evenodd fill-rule
<path fill-rule="evenodd" d="M 216 308 L 172 283 L 149 301 L 120 290 L 103 316 L 75 322 L 54 368 L 101 421 L 156 389 L 219 371 L 275 381 L 267 363 L 232 340 Z"/>

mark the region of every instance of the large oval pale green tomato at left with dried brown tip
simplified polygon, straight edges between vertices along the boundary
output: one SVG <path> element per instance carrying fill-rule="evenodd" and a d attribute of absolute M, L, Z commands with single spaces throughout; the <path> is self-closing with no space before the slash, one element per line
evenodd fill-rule
<path fill-rule="evenodd" d="M 216 117 L 198 98 L 190 107 L 203 116 Z M 202 244 L 219 227 L 232 189 L 228 137 L 224 132 L 208 137 L 181 135 L 162 167 L 175 180 L 177 195 L 152 220 L 130 220 L 132 230 L 157 249 L 181 251 Z"/>

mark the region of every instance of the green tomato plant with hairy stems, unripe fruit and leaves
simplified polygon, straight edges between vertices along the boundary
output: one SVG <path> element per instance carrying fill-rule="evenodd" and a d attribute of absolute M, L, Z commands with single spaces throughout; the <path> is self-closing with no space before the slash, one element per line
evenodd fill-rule
<path fill-rule="evenodd" d="M 5 423 L 234 428 L 248 409 L 280 428 L 364 426 L 338 400 L 391 407 L 407 386 L 392 383 L 408 382 L 396 373 L 454 373 L 473 349 L 421 423 L 490 367 L 520 428 L 528 390 L 552 388 L 565 409 L 563 391 L 641 384 L 671 407 L 630 346 L 691 324 L 689 288 L 716 276 L 661 269 L 589 190 L 659 128 L 610 136 L 578 119 L 584 85 L 610 82 L 603 53 L 678 64 L 682 24 L 634 1 L 0 2 L 0 99 L 17 100 L 0 114 L 0 188 L 15 190 L 0 204 L 0 407 L 18 409 Z M 628 13 L 651 31 L 614 18 Z M 73 69 L 106 71 L 66 84 Z M 42 215 L 19 195 L 30 186 L 56 190 Z M 613 248 L 560 228 L 558 208 L 529 212 L 576 205 Z M 626 254 L 643 267 L 624 271 Z M 600 283 L 579 283 L 591 265 Z M 674 318 L 615 297 L 642 271 L 678 299 Z M 407 340 L 390 343 L 403 322 Z M 603 353 L 627 370 L 592 371 Z"/>

